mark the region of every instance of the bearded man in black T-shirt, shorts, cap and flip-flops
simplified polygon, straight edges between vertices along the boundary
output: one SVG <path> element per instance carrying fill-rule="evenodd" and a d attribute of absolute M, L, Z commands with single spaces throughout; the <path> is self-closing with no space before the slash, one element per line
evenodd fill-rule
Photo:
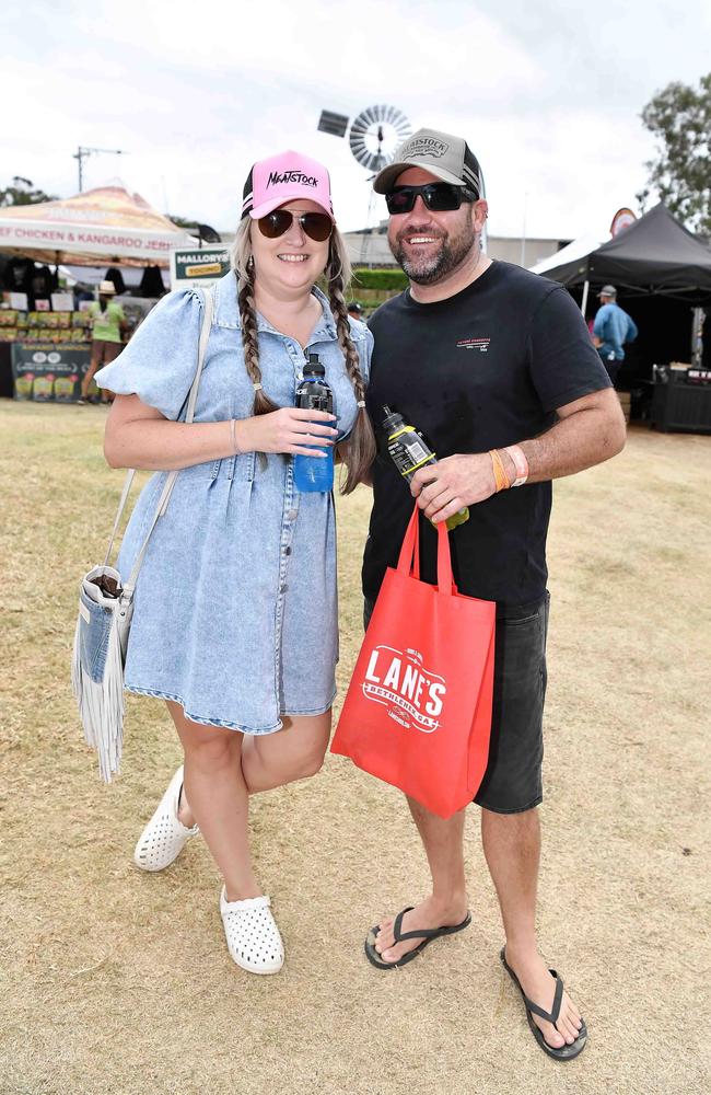
<path fill-rule="evenodd" d="M 387 405 L 436 451 L 439 462 L 411 481 L 426 517 L 439 523 L 469 507 L 469 520 L 450 540 L 459 590 L 497 602 L 491 748 L 475 802 L 503 919 L 501 957 L 525 994 L 541 1048 L 567 1059 L 583 1049 L 586 1029 L 535 935 L 550 480 L 619 452 L 625 422 L 568 291 L 482 252 L 488 207 L 479 164 L 462 138 L 420 129 L 374 186 L 386 195 L 389 245 L 410 286 L 370 321 L 368 406 L 376 428 Z M 363 561 L 366 620 L 412 510 L 378 434 Z M 515 489 L 503 489 L 509 484 Z M 427 581 L 436 580 L 435 552 L 436 532 L 421 521 Z M 432 894 L 371 931 L 366 954 L 381 969 L 409 961 L 428 933 L 468 923 L 464 811 L 445 821 L 409 806 Z"/>

